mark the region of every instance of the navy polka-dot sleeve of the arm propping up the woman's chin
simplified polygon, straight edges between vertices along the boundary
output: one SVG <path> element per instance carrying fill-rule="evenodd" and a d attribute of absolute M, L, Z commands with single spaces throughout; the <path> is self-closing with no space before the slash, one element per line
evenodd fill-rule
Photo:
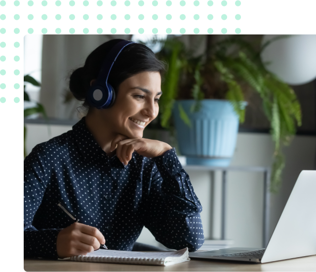
<path fill-rule="evenodd" d="M 175 149 L 154 158 L 144 225 L 170 249 L 196 251 L 204 243 L 202 206 Z"/>

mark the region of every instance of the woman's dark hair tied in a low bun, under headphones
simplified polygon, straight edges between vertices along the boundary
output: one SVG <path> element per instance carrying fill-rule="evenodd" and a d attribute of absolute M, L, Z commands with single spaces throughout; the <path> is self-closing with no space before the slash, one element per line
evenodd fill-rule
<path fill-rule="evenodd" d="M 70 76 L 69 88 L 76 99 L 84 101 L 82 108 L 89 110 L 91 105 L 86 99 L 90 81 L 98 77 L 101 65 L 112 47 L 122 39 L 112 39 L 94 49 L 87 57 L 83 67 L 75 70 Z M 142 72 L 159 72 L 160 76 L 166 71 L 165 63 L 158 60 L 154 52 L 146 45 L 133 43 L 127 45 L 113 65 L 108 82 L 118 91 L 119 84 L 126 78 Z"/>

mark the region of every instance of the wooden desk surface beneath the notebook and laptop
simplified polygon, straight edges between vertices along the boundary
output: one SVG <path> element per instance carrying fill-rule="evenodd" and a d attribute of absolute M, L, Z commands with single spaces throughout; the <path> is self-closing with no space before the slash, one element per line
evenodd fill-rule
<path fill-rule="evenodd" d="M 191 259 L 168 267 L 24 259 L 26 272 L 315 272 L 316 255 L 266 264 Z"/>

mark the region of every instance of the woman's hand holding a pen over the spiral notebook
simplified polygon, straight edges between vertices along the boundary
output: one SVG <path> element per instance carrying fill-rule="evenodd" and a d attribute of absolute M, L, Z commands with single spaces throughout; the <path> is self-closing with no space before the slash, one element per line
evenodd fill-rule
<path fill-rule="evenodd" d="M 86 255 L 99 249 L 101 244 L 105 244 L 105 238 L 97 228 L 74 223 L 58 233 L 57 255 L 60 259 Z"/>

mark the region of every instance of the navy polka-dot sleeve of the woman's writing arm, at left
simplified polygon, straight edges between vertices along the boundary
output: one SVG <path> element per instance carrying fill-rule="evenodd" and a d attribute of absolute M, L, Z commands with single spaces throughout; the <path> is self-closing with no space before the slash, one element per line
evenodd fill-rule
<path fill-rule="evenodd" d="M 60 229 L 37 230 L 33 218 L 47 188 L 45 156 L 40 145 L 24 159 L 24 257 L 57 259 Z"/>

